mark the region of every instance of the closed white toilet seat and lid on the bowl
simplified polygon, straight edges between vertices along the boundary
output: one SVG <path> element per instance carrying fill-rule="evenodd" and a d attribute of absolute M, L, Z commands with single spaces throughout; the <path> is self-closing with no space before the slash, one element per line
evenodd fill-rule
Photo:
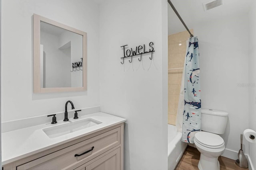
<path fill-rule="evenodd" d="M 224 140 L 219 135 L 214 133 L 200 131 L 195 134 L 194 140 L 198 144 L 207 147 L 207 148 L 221 148 L 224 146 Z"/>

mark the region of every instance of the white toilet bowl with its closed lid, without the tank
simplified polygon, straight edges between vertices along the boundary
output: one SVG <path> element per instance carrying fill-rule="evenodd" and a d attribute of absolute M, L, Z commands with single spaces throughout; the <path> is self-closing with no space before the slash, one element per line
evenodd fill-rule
<path fill-rule="evenodd" d="M 194 144 L 201 153 L 199 170 L 220 170 L 218 157 L 224 152 L 224 140 L 214 133 L 201 131 L 195 134 Z"/>

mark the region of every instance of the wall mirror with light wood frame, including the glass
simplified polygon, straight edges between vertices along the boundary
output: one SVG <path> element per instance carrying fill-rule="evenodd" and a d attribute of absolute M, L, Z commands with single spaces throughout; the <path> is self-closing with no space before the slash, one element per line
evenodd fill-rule
<path fill-rule="evenodd" d="M 33 17 L 34 93 L 87 90 L 87 33 Z"/>

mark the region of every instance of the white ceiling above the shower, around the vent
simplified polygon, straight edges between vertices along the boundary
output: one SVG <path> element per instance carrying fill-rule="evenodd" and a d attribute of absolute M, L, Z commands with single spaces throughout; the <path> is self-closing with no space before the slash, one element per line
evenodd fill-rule
<path fill-rule="evenodd" d="M 171 0 L 189 29 L 198 22 L 217 20 L 225 16 L 245 14 L 250 9 L 252 0 L 222 0 L 222 6 L 204 11 L 203 3 L 211 0 Z M 168 35 L 186 29 L 168 4 Z"/>

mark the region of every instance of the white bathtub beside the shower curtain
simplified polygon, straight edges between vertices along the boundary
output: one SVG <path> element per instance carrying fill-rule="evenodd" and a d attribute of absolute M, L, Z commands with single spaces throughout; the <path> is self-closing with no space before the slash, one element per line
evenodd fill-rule
<path fill-rule="evenodd" d="M 187 143 L 181 142 L 181 135 L 175 125 L 168 124 L 168 170 L 174 170 L 187 147 Z"/>

